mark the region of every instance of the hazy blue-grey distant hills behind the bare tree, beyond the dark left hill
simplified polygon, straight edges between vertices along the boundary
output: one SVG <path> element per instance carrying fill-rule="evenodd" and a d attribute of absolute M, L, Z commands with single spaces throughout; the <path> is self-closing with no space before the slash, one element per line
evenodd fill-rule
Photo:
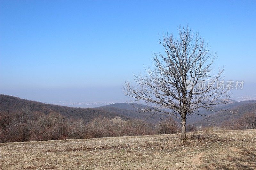
<path fill-rule="evenodd" d="M 134 104 L 134 106 L 136 108 L 147 107 L 146 105 L 139 105 L 139 104 Z M 152 115 L 149 113 L 139 113 L 139 110 L 136 109 L 135 107 L 133 107 L 129 103 L 115 103 L 115 104 L 106 105 L 98 108 L 116 112 L 131 118 L 144 119 L 148 122 L 159 122 L 164 118 L 164 116 L 158 115 L 158 114 Z M 200 114 L 205 114 L 210 116 L 209 118 L 207 118 L 208 121 L 206 121 L 207 119 L 204 120 L 202 116 L 194 114 L 194 115 L 188 116 L 187 123 L 194 124 L 194 125 L 203 124 L 204 126 L 209 126 L 209 123 L 213 123 L 212 122 L 213 120 L 216 125 L 221 125 L 222 122 L 230 120 L 231 118 L 236 119 L 241 117 L 246 112 L 256 111 L 256 100 L 247 100 L 247 101 L 240 101 L 240 102 L 236 100 L 230 100 L 227 104 L 221 104 L 216 106 L 215 110 L 230 110 L 233 112 L 237 111 L 237 113 L 232 114 L 231 112 L 227 112 L 227 111 L 211 112 L 211 111 L 205 111 L 204 109 L 199 109 Z M 176 118 L 174 119 L 179 122 L 179 120 L 177 120 Z"/>

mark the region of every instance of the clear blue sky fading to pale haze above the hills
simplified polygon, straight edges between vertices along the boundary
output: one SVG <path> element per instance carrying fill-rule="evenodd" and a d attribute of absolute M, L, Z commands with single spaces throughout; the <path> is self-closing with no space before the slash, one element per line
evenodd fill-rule
<path fill-rule="evenodd" d="M 124 81 L 163 51 L 159 35 L 187 24 L 217 53 L 225 78 L 252 88 L 255 9 L 256 1 L 1 0 L 0 93 L 43 102 L 121 101 Z"/>

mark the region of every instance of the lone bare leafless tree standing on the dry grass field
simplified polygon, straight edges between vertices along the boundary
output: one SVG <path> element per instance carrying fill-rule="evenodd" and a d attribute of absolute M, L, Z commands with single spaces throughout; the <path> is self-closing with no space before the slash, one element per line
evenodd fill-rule
<path fill-rule="evenodd" d="M 181 120 L 181 137 L 186 139 L 186 118 L 198 114 L 199 108 L 214 110 L 214 106 L 228 101 L 228 89 L 213 83 L 219 82 L 223 69 L 214 74 L 216 55 L 198 34 L 187 27 L 179 27 L 179 38 L 163 35 L 160 44 L 165 55 L 153 55 L 154 68 L 146 69 L 146 75 L 135 76 L 136 86 L 126 82 L 124 92 L 140 103 L 148 103 L 143 112 L 173 115 Z M 204 85 L 205 82 L 209 84 Z M 153 107 L 152 107 L 153 106 Z M 167 111 L 168 110 L 168 111 Z"/>

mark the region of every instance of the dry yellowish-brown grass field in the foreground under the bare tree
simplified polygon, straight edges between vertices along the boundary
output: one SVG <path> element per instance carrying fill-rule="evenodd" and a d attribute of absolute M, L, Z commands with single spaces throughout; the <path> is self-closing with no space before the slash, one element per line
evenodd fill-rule
<path fill-rule="evenodd" d="M 0 169 L 256 169 L 256 129 L 0 144 Z"/>

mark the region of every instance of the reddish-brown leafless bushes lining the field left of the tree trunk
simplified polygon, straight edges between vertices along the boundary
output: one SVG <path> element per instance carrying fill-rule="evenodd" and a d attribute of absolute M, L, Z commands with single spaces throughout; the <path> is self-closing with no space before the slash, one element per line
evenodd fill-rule
<path fill-rule="evenodd" d="M 83 119 L 67 118 L 57 112 L 45 115 L 29 107 L 12 113 L 0 113 L 0 142 L 24 142 L 77 138 L 117 137 L 168 134 L 178 132 L 178 124 L 168 119 L 151 124 L 133 119 L 118 123 L 106 117 L 96 117 L 89 123 Z"/>

